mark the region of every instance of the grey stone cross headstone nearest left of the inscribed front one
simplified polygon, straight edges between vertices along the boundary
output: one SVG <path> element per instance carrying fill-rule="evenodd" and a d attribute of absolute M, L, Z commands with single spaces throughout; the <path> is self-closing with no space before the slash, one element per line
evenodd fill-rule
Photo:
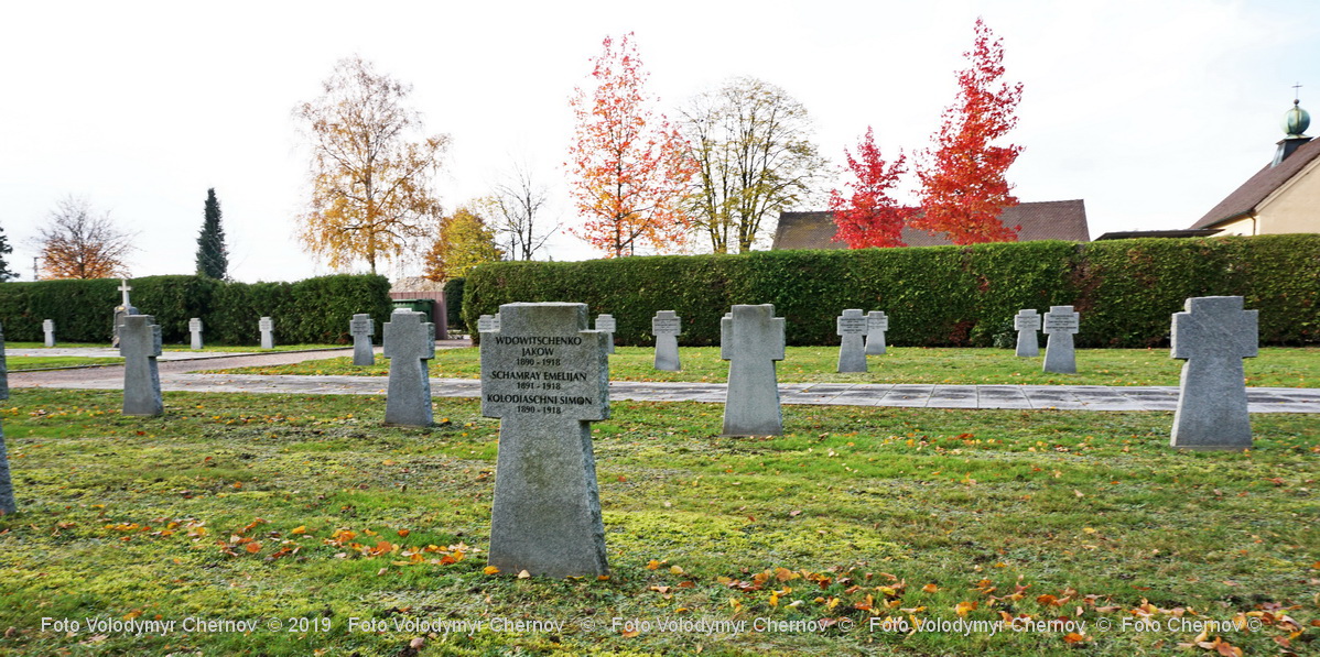
<path fill-rule="evenodd" d="M 385 322 L 384 355 L 389 359 L 385 391 L 385 423 L 430 426 L 430 373 L 426 361 L 436 358 L 436 325 L 425 313 L 395 310 Z"/>

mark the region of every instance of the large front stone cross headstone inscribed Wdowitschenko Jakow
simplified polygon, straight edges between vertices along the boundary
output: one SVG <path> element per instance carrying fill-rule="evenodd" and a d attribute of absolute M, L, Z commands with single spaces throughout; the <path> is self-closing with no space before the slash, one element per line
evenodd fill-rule
<path fill-rule="evenodd" d="M 609 571 L 591 422 L 610 417 L 605 334 L 585 303 L 506 303 L 482 339 L 482 414 L 500 418 L 490 565 Z"/>

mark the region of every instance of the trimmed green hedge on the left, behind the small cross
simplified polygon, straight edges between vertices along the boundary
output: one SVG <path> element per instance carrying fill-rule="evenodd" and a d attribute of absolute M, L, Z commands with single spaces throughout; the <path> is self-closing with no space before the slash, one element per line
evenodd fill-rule
<path fill-rule="evenodd" d="M 201 276 L 133 278 L 132 301 L 156 317 L 165 344 L 189 342 L 187 321 L 202 318 L 207 344 L 259 344 L 257 321 L 275 321 L 276 344 L 346 344 L 348 319 L 370 313 L 389 318 L 389 281 L 383 276 L 322 276 L 298 282 L 223 282 Z M 55 321 L 58 342 L 110 344 L 117 280 L 0 284 L 0 325 L 13 342 L 41 342 L 41 322 Z M 379 335 L 379 331 L 378 331 Z"/>

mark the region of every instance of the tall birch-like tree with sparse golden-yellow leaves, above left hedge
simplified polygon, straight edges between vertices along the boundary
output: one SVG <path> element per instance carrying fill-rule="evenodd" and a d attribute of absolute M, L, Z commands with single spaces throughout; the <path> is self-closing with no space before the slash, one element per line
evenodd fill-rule
<path fill-rule="evenodd" d="M 404 103 L 412 92 L 360 57 L 341 59 L 321 98 L 294 116 L 312 144 L 312 198 L 298 239 L 330 266 L 376 263 L 416 248 L 436 228 L 440 202 L 430 181 L 449 139 L 411 141 L 421 115 Z"/>

